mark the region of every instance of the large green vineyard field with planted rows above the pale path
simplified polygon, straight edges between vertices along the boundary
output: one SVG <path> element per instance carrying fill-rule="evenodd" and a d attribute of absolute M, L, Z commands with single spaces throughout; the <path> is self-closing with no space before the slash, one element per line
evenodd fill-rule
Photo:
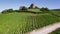
<path fill-rule="evenodd" d="M 50 13 L 0 14 L 0 34 L 24 34 L 49 24 L 60 22 L 60 11 Z"/>

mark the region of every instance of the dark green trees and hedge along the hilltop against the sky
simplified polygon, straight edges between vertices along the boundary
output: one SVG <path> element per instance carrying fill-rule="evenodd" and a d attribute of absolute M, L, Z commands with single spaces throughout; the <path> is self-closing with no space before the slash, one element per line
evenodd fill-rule
<path fill-rule="evenodd" d="M 32 8 L 33 4 L 30 5 L 30 7 L 25 7 L 25 6 L 21 6 L 19 7 L 19 10 L 13 10 L 13 9 L 5 9 L 3 10 L 1 13 L 5 14 L 5 13 L 13 13 L 13 12 L 29 12 L 29 13 L 36 13 L 36 12 L 33 12 L 33 11 L 28 11 L 28 9 L 40 9 L 40 11 L 42 12 L 48 12 L 49 9 L 48 8 L 39 8 L 37 6 L 35 6 L 35 8 Z"/>

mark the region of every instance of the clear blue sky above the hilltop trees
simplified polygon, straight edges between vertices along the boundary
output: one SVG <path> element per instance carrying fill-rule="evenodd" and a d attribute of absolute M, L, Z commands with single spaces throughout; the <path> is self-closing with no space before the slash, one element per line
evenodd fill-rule
<path fill-rule="evenodd" d="M 40 8 L 60 9 L 60 0 L 0 0 L 0 11 L 10 8 L 19 9 L 20 6 L 29 7 L 31 3 Z"/>

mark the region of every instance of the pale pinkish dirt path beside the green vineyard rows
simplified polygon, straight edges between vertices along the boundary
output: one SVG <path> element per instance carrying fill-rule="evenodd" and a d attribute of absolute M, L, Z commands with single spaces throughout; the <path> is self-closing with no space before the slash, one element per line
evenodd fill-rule
<path fill-rule="evenodd" d="M 33 30 L 32 32 L 29 32 L 27 34 L 48 34 L 56 30 L 57 28 L 60 28 L 60 22 L 48 25 L 38 30 Z"/>

